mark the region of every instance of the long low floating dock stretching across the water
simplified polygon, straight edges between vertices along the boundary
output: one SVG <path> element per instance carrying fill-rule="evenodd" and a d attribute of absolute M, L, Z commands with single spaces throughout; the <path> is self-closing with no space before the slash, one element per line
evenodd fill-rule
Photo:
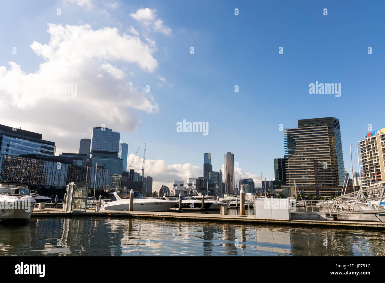
<path fill-rule="evenodd" d="M 327 227 L 361 227 L 384 229 L 385 223 L 376 221 L 353 221 L 353 220 L 282 220 L 282 219 L 258 219 L 254 215 L 219 215 L 210 213 L 186 213 L 186 212 L 143 212 L 143 211 L 108 211 L 88 209 L 86 212 L 65 212 L 60 209 L 46 208 L 44 210 L 34 209 L 32 217 L 124 217 L 124 218 L 155 218 L 160 220 L 188 220 L 206 222 L 233 222 L 238 224 L 275 224 L 290 226 L 327 226 Z"/>

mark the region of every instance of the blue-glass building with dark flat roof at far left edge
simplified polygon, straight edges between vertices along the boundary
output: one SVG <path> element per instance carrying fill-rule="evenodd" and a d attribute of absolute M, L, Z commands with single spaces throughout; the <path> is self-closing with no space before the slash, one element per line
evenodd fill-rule
<path fill-rule="evenodd" d="M 55 143 L 42 140 L 42 134 L 0 125 L 0 154 L 55 156 L 55 151 Z"/>

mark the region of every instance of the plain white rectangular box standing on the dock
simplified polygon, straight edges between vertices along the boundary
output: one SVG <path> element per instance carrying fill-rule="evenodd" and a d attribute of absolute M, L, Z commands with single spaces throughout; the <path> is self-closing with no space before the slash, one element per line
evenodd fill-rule
<path fill-rule="evenodd" d="M 290 199 L 288 198 L 256 198 L 255 218 L 290 219 Z"/>

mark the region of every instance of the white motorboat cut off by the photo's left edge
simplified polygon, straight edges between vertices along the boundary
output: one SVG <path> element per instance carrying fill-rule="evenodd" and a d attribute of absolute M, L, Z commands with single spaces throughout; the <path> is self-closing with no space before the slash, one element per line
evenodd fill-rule
<path fill-rule="evenodd" d="M 0 183 L 0 220 L 29 220 L 35 204 L 27 184 Z"/>

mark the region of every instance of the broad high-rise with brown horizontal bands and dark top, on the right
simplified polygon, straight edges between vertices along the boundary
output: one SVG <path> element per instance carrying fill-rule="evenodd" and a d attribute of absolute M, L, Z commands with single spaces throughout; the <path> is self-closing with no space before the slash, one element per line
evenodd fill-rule
<path fill-rule="evenodd" d="M 286 180 L 294 186 L 342 186 L 340 121 L 334 117 L 298 120 L 285 129 Z"/>

